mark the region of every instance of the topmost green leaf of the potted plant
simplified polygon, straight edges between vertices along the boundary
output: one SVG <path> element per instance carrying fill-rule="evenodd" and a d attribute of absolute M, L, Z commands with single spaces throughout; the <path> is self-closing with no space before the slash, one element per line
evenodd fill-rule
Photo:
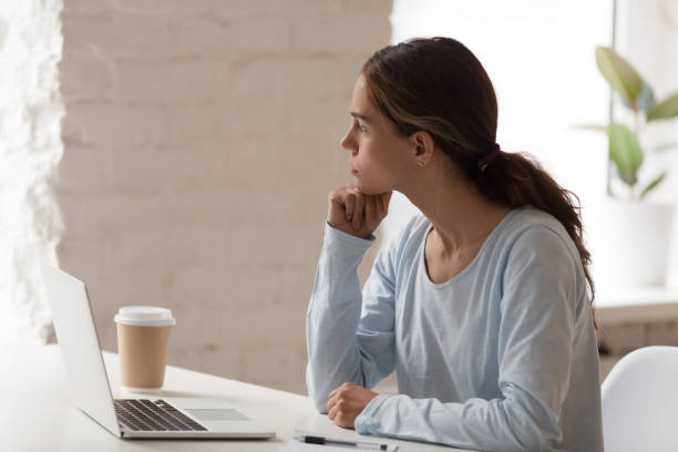
<path fill-rule="evenodd" d="M 596 64 L 609 86 L 637 110 L 636 101 L 644 81 L 634 66 L 613 49 L 602 45 L 596 48 Z"/>

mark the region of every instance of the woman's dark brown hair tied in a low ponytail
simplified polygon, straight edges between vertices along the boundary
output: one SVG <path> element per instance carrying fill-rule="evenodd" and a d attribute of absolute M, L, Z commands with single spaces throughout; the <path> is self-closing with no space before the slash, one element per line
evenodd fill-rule
<path fill-rule="evenodd" d="M 398 132 L 431 134 L 486 199 L 511 208 L 532 205 L 561 222 L 579 253 L 593 305 L 578 197 L 526 153 L 502 152 L 480 168 L 479 162 L 495 146 L 497 105 L 475 55 L 451 38 L 415 38 L 374 52 L 362 74 L 377 109 Z"/>

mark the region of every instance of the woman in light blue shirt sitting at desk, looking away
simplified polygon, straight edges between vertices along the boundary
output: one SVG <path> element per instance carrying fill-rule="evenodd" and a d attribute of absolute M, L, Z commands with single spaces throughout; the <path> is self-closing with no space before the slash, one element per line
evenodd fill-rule
<path fill-rule="evenodd" d="M 481 63 L 449 38 L 376 52 L 341 141 L 307 315 L 317 409 L 359 433 L 480 450 L 602 451 L 593 281 L 578 207 L 495 143 Z M 423 215 L 357 268 L 392 191 Z M 590 292 L 590 294 L 589 294 Z M 370 391 L 396 371 L 399 394 Z"/>

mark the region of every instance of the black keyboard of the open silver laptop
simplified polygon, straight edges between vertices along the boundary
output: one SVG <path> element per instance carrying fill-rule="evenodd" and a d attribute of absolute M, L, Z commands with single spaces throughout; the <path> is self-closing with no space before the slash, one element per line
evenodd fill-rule
<path fill-rule="evenodd" d="M 207 431 L 164 400 L 116 399 L 115 414 L 134 431 Z"/>

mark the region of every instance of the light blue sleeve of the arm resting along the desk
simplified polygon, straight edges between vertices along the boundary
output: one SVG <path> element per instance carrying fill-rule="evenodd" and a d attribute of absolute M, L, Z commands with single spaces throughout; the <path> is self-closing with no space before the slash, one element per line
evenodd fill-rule
<path fill-rule="evenodd" d="M 575 259 L 546 227 L 514 243 L 500 306 L 501 397 L 444 403 L 380 394 L 356 419 L 356 431 L 480 450 L 554 450 L 573 360 Z"/>

